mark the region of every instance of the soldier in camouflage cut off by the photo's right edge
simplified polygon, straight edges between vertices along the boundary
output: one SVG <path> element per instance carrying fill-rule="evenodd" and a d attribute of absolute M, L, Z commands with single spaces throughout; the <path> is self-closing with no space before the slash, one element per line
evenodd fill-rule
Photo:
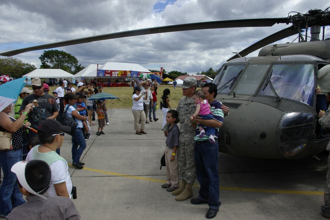
<path fill-rule="evenodd" d="M 330 128 L 330 108 L 324 113 L 320 110 L 318 113 L 318 122 L 322 128 Z M 327 145 L 326 150 L 329 152 L 330 150 L 330 142 Z M 324 204 L 321 205 L 322 215 L 325 218 L 330 218 L 330 154 L 328 157 L 328 173 L 326 174 L 327 181 L 325 182 L 324 189 Z"/>

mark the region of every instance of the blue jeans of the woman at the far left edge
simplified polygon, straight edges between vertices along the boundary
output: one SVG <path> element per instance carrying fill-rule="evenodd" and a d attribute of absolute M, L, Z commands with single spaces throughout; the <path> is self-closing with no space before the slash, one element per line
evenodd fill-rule
<path fill-rule="evenodd" d="M 22 160 L 22 149 L 0 151 L 3 181 L 0 187 L 0 214 L 8 215 L 13 208 L 25 203 L 18 190 L 16 174 L 11 171 L 14 164 Z"/>

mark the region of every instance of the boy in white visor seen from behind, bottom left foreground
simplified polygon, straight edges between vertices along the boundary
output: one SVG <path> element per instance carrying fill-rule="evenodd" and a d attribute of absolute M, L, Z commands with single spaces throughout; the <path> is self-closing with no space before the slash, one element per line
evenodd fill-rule
<path fill-rule="evenodd" d="M 18 189 L 27 202 L 14 208 L 6 219 L 80 219 L 70 199 L 49 195 L 51 172 L 45 161 L 19 161 L 11 171 L 16 174 Z"/>

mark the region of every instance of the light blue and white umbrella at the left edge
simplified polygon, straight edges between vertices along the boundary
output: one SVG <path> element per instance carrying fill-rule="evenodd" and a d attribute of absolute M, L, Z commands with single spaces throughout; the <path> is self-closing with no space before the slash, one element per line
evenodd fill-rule
<path fill-rule="evenodd" d="M 26 77 L 15 79 L 0 85 L 0 111 L 12 103 L 16 103 L 19 93 L 22 91 Z"/>

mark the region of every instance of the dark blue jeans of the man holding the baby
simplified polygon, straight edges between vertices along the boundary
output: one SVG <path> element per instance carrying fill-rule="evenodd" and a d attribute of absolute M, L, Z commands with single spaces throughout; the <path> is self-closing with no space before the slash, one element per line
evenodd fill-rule
<path fill-rule="evenodd" d="M 218 173 L 218 142 L 197 143 L 195 141 L 196 175 L 201 188 L 198 198 L 208 202 L 210 208 L 219 209 L 219 173 Z"/>

